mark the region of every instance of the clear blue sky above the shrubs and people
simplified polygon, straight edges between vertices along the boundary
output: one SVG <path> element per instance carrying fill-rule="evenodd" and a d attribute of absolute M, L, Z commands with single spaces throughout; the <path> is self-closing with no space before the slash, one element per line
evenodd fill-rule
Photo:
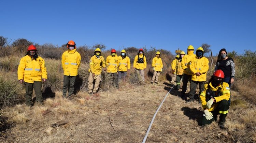
<path fill-rule="evenodd" d="M 174 53 L 202 43 L 255 51 L 255 0 L 1 0 L 0 35 L 38 44 L 107 49 L 150 46 Z"/>

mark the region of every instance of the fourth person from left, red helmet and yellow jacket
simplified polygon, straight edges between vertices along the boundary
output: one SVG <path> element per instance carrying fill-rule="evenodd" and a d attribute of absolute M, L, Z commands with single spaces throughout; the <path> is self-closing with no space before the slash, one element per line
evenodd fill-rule
<path fill-rule="evenodd" d="M 115 87 L 118 89 L 118 74 L 117 74 L 117 67 L 119 65 L 119 58 L 116 55 L 116 50 L 112 49 L 111 54 L 106 58 L 106 66 L 107 66 L 107 72 L 110 74 L 113 78 L 113 83 Z"/>

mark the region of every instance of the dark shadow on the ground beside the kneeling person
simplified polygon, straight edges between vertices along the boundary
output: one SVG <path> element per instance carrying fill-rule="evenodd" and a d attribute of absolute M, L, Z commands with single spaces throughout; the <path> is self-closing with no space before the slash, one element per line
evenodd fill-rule
<path fill-rule="evenodd" d="M 198 125 L 200 125 L 200 121 L 202 118 L 202 111 L 196 108 L 189 108 L 189 107 L 182 107 L 181 110 L 183 111 L 184 115 L 189 117 L 189 120 L 196 120 Z"/>

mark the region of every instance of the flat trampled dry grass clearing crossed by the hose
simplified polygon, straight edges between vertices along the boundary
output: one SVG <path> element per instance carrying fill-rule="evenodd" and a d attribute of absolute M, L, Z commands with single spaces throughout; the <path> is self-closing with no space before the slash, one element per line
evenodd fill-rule
<path fill-rule="evenodd" d="M 118 90 L 88 95 L 79 92 L 63 99 L 61 92 L 44 105 L 18 104 L 6 108 L 12 127 L 1 142 L 141 142 L 148 125 L 170 89 L 168 82 L 134 86 L 123 83 Z M 255 107 L 246 102 L 233 105 L 227 129 L 217 123 L 200 127 L 197 102 L 186 103 L 171 91 L 158 112 L 146 142 L 255 142 Z M 233 99 L 237 93 L 233 92 Z M 243 106 L 242 106 L 243 105 Z M 251 114 L 250 111 L 253 111 Z M 242 121 L 242 122 L 240 122 Z M 252 127 L 248 132 L 248 126 Z M 112 127 L 113 126 L 113 127 Z M 249 133 L 249 134 L 248 134 Z"/>

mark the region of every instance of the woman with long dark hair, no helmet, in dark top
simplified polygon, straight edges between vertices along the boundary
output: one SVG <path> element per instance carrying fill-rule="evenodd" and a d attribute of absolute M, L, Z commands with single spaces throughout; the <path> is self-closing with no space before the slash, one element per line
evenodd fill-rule
<path fill-rule="evenodd" d="M 227 51 L 224 48 L 219 51 L 218 60 L 215 65 L 214 72 L 217 69 L 221 69 L 224 72 L 225 77 L 223 82 L 227 82 L 229 85 L 229 89 L 231 89 L 231 83 L 234 82 L 234 74 L 236 70 L 234 68 L 233 59 L 227 57 Z M 230 104 L 230 98 L 228 102 Z"/>

